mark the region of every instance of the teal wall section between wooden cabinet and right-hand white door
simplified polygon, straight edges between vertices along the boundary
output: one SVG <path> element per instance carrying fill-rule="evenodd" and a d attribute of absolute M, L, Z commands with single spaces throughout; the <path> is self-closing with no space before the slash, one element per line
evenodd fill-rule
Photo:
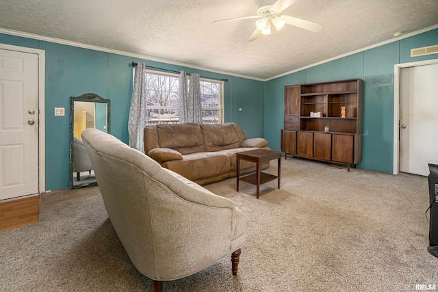
<path fill-rule="evenodd" d="M 363 137 L 360 168 L 392 173 L 394 152 L 394 64 L 398 43 L 363 53 Z"/>

